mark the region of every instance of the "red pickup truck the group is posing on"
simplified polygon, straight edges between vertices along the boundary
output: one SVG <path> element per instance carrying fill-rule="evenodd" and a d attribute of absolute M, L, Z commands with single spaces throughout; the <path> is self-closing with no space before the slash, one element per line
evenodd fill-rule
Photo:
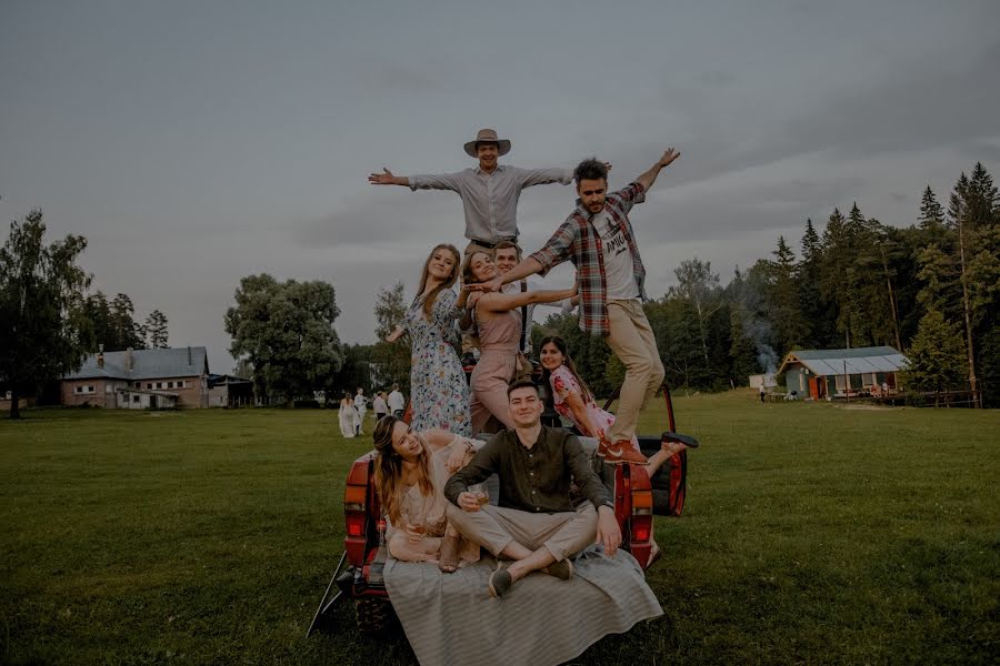
<path fill-rule="evenodd" d="M 677 434 L 673 425 L 673 404 L 670 390 L 663 385 L 667 401 L 669 430 L 660 436 L 639 436 L 639 446 L 647 456 L 660 450 L 662 438 L 671 438 L 687 444 L 696 443 L 693 437 Z M 608 404 L 618 396 L 617 392 Z M 547 425 L 557 425 L 554 413 L 548 414 Z M 672 456 L 650 480 L 641 465 L 610 465 L 597 456 L 597 441 L 581 438 L 584 448 L 591 453 L 594 471 L 612 492 L 614 515 L 621 526 L 621 547 L 632 554 L 643 569 L 656 561 L 652 552 L 653 516 L 680 516 L 684 505 L 687 480 L 687 453 Z M 358 626 L 368 633 L 380 633 L 388 628 L 396 616 L 382 578 L 382 569 L 388 557 L 384 542 L 386 521 L 374 487 L 374 455 L 366 453 L 351 465 L 347 487 L 343 493 L 346 523 L 344 553 L 340 558 L 333 579 L 316 612 L 309 633 L 319 626 L 328 610 L 341 597 L 354 601 Z M 347 562 L 347 568 L 343 568 Z M 341 571 L 343 569 L 343 571 Z M 329 598 L 333 584 L 339 592 Z"/>

